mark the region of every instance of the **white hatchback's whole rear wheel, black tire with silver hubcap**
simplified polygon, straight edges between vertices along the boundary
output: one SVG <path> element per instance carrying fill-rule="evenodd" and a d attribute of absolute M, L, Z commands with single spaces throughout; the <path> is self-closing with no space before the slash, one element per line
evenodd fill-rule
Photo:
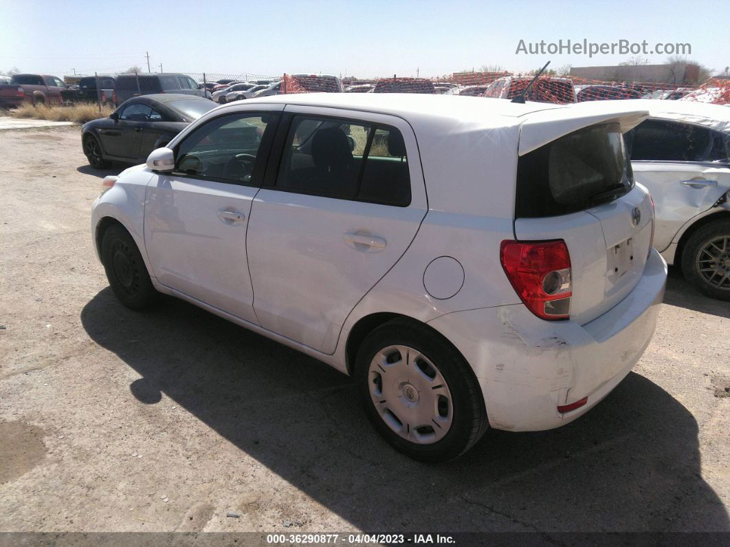
<path fill-rule="evenodd" d="M 377 432 L 414 459 L 456 458 L 487 429 L 474 372 L 426 326 L 395 319 L 375 329 L 358 351 L 355 376 Z"/>

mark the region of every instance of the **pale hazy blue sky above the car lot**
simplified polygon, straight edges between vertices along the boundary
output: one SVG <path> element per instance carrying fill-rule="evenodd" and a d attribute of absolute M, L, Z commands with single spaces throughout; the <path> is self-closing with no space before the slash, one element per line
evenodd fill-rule
<path fill-rule="evenodd" d="M 702 7 L 702 9 L 701 9 Z M 0 70 L 63 76 L 153 71 L 359 77 L 434 76 L 552 61 L 592 66 L 632 55 L 523 55 L 526 43 L 689 43 L 689 58 L 730 65 L 730 1 L 1 0 Z M 648 56 L 661 63 L 666 55 Z"/>

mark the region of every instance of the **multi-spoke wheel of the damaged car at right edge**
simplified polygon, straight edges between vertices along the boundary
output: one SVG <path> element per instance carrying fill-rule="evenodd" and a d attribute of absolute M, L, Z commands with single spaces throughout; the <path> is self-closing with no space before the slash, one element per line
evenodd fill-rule
<path fill-rule="evenodd" d="M 715 259 L 704 252 L 708 247 Z M 715 271 L 701 271 L 709 268 Z M 682 272 L 705 296 L 730 301 L 730 220 L 710 222 L 689 237 L 682 251 Z"/>

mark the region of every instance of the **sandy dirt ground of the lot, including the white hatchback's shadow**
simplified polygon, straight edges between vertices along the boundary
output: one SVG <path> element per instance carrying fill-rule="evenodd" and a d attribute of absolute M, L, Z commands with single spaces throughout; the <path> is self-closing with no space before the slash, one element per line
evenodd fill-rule
<path fill-rule="evenodd" d="M 0 530 L 730 531 L 730 305 L 678 272 L 586 416 L 420 464 L 326 365 L 174 299 L 122 307 L 77 127 L 0 150 Z"/>

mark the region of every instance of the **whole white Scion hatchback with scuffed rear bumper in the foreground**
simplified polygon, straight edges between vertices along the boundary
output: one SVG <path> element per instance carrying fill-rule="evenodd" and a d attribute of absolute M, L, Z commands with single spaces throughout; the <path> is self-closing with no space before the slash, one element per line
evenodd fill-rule
<path fill-rule="evenodd" d="M 449 459 L 574 420 L 648 345 L 666 264 L 632 106 L 226 105 L 106 181 L 93 240 L 123 304 L 171 294 L 331 364 L 389 443 Z"/>

